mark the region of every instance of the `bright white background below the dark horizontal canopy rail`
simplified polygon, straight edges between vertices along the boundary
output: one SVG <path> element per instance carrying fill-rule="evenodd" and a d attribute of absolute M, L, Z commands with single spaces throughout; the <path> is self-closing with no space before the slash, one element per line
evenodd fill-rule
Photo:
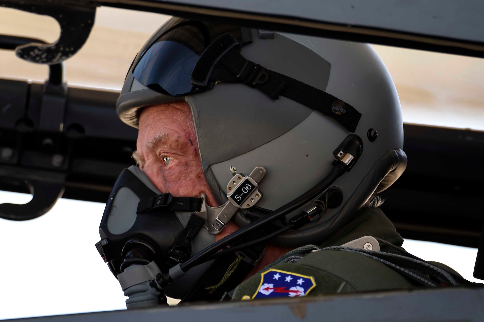
<path fill-rule="evenodd" d="M 0 204 L 31 196 L 0 191 Z M 124 309 L 121 287 L 94 244 L 104 204 L 60 199 L 44 216 L 0 219 L 0 319 Z M 472 278 L 477 249 L 406 240 L 409 252 Z"/>

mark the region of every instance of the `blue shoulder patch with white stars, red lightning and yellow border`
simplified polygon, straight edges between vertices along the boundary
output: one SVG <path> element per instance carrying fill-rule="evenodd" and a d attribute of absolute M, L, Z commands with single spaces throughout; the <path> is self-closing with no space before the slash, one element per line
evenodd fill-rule
<path fill-rule="evenodd" d="M 312 276 L 269 269 L 261 274 L 255 298 L 306 296 L 316 286 Z"/>

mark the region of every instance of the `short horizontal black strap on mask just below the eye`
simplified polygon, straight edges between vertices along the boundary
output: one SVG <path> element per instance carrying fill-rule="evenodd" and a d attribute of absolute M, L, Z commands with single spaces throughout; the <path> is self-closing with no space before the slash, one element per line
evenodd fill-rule
<path fill-rule="evenodd" d="M 152 198 L 141 200 L 136 213 L 157 210 L 160 208 L 173 211 L 200 211 L 202 200 L 192 197 L 173 197 L 169 193 L 162 193 Z"/>

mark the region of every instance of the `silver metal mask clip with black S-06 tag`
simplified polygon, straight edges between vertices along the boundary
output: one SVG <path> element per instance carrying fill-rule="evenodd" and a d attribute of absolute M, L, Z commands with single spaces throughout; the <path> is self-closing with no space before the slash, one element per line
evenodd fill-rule
<path fill-rule="evenodd" d="M 209 234 L 219 234 L 237 210 L 257 204 L 262 198 L 262 193 L 258 190 L 259 182 L 265 174 L 266 169 L 262 166 L 254 168 L 249 176 L 236 173 L 227 184 L 228 201 L 218 207 L 210 207 L 205 194 L 200 195 L 203 199 L 202 206 L 195 214 L 205 220 L 203 227 Z"/>

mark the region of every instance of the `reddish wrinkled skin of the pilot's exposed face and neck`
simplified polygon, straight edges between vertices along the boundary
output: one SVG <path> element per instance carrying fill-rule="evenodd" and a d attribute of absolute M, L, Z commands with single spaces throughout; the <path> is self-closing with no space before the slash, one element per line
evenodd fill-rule
<path fill-rule="evenodd" d="M 185 102 L 166 103 L 144 108 L 139 116 L 137 150 L 133 158 L 161 192 L 174 196 L 199 197 L 207 195 L 207 204 L 218 206 L 203 175 L 197 136 Z M 229 221 L 216 240 L 237 231 Z M 266 255 L 247 276 L 250 277 L 290 249 L 267 246 Z"/>

